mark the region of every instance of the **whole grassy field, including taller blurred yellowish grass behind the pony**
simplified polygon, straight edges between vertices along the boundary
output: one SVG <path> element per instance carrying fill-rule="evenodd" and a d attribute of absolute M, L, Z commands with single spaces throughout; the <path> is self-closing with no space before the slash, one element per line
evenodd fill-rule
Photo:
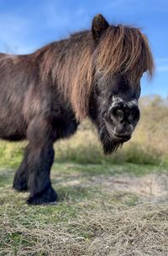
<path fill-rule="evenodd" d="M 55 145 L 55 205 L 26 205 L 29 194 L 12 189 L 26 142 L 1 141 L 1 256 L 168 255 L 168 129 L 159 122 L 166 111 L 152 130 L 153 114 L 144 110 L 132 141 L 113 157 L 102 155 L 88 122 Z"/>

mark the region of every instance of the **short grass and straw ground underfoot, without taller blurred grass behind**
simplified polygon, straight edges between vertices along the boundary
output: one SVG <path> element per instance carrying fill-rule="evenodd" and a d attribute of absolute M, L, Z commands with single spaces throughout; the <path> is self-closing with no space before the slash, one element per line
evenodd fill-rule
<path fill-rule="evenodd" d="M 13 169 L 1 169 L 0 255 L 168 254 L 161 166 L 55 163 L 55 205 L 26 205 L 28 194 L 13 191 L 12 179 Z"/>

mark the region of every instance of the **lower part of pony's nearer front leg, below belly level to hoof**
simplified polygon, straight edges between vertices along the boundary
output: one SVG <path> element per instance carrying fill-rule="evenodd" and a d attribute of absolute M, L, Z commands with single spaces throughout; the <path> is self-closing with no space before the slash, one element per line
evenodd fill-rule
<path fill-rule="evenodd" d="M 29 179 L 30 191 L 29 204 L 47 204 L 57 198 L 55 190 L 51 187 L 50 168 L 54 161 L 54 149 L 52 145 L 34 147 L 29 154 Z"/>

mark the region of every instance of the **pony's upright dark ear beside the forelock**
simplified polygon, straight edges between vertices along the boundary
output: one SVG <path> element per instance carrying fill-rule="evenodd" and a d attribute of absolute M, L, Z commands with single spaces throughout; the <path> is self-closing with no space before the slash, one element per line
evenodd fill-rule
<path fill-rule="evenodd" d="M 92 20 L 92 35 L 94 40 L 98 40 L 104 30 L 108 29 L 109 24 L 102 14 L 97 14 Z"/>

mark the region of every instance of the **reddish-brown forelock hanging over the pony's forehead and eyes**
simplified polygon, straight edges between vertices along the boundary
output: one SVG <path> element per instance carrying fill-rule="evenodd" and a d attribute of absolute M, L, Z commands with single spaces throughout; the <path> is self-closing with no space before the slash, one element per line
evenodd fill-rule
<path fill-rule="evenodd" d="M 136 85 L 144 72 L 152 77 L 154 61 L 148 40 L 139 29 L 110 26 L 97 47 L 97 74 L 121 73 Z"/>

